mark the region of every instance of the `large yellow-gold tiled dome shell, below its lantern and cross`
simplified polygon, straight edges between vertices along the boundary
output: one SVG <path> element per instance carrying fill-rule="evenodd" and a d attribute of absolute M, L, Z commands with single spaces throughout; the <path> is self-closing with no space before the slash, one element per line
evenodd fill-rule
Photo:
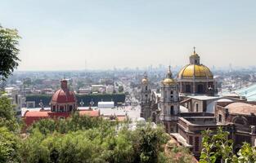
<path fill-rule="evenodd" d="M 178 73 L 177 77 L 182 78 L 209 78 L 213 79 L 213 73 L 203 64 L 187 64 Z"/>

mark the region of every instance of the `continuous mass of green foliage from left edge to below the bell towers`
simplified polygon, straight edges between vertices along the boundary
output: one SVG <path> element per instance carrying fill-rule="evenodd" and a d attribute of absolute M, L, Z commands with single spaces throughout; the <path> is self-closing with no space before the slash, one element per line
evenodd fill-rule
<path fill-rule="evenodd" d="M 0 119 L 0 162 L 173 162 L 164 152 L 168 136 L 162 126 L 129 130 L 126 123 L 74 112 L 68 119 L 38 121 L 20 134 L 6 97 L 0 98 Z"/>

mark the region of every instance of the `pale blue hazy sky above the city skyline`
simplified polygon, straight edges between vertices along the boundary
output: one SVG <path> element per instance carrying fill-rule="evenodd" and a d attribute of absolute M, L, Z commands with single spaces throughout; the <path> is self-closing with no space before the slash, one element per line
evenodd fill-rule
<path fill-rule="evenodd" d="M 255 0 L 0 0 L 19 30 L 19 70 L 255 65 Z M 86 63 L 86 64 L 85 64 Z"/>

